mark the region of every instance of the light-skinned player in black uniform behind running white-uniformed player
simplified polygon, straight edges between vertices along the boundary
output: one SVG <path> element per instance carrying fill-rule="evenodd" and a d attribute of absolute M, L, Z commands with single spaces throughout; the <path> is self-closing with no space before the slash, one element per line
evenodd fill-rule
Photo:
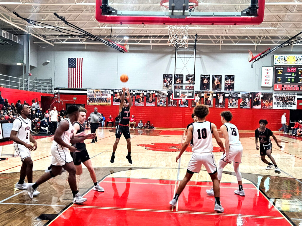
<path fill-rule="evenodd" d="M 84 122 L 85 122 L 85 119 L 86 119 L 86 113 L 87 113 L 87 110 L 83 107 L 80 107 L 78 121 L 75 122 L 75 124 L 73 125 L 73 127 L 74 127 L 74 131 L 73 131 L 74 137 L 84 137 L 86 135 L 85 128 L 83 126 Z M 91 177 L 91 179 L 93 181 L 93 184 L 95 186 L 93 188 L 93 190 L 103 192 L 104 188 L 102 188 L 98 184 L 98 181 L 96 180 L 95 171 L 92 167 L 91 160 L 90 160 L 89 154 L 86 150 L 86 144 L 84 143 L 84 141 L 81 141 L 81 142 L 76 143 L 76 144 L 72 144 L 72 146 L 75 146 L 76 149 L 79 151 L 79 152 L 78 151 L 70 152 L 70 155 L 72 156 L 72 159 L 73 159 L 73 163 L 76 166 L 76 174 L 77 175 L 82 174 L 82 163 L 83 163 L 87 167 L 87 169 L 90 173 L 90 177 Z"/>

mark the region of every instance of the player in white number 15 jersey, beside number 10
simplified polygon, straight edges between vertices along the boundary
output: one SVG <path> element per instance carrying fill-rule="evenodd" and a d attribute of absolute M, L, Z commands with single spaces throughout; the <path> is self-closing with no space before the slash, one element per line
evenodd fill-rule
<path fill-rule="evenodd" d="M 223 151 L 221 156 L 219 166 L 218 166 L 218 180 L 220 182 L 222 177 L 223 168 L 228 164 L 233 162 L 234 171 L 238 181 L 238 190 L 235 190 L 235 194 L 245 196 L 242 187 L 242 177 L 239 171 L 239 164 L 241 163 L 241 157 L 243 152 L 243 147 L 239 139 L 239 132 L 236 125 L 230 123 L 233 115 L 230 111 L 223 111 L 220 113 L 221 122 L 223 125 L 220 127 L 220 131 L 224 137 L 224 142 L 226 145 L 226 150 Z M 206 190 L 208 195 L 214 195 L 212 189 Z"/>

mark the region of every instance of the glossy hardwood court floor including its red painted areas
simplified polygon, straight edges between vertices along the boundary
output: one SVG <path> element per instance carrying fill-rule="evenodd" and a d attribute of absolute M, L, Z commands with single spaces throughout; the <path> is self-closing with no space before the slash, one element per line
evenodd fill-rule
<path fill-rule="evenodd" d="M 33 200 L 29 199 L 26 191 L 14 189 L 19 178 L 20 158 L 11 157 L 14 154 L 12 144 L 0 146 L 3 160 L 0 162 L 0 225 L 44 225 L 57 216 L 50 225 L 139 225 L 144 221 L 149 225 L 155 224 L 159 218 L 165 220 L 158 221 L 156 225 L 194 225 L 197 219 L 198 224 L 204 222 L 206 225 L 302 225 L 300 138 L 275 133 L 283 146 L 280 150 L 273 142 L 273 156 L 281 169 L 281 174 L 277 174 L 273 170 L 265 170 L 266 165 L 261 162 L 259 151 L 255 150 L 254 134 L 240 132 L 244 147 L 240 171 L 247 195 L 234 195 L 236 176 L 232 165 L 226 166 L 221 181 L 221 202 L 225 212 L 216 214 L 213 197 L 205 194 L 211 183 L 204 168 L 193 175 L 190 186 L 179 198 L 178 207 L 172 209 L 169 206 L 177 187 L 175 183 L 184 177 L 191 157 L 191 152 L 185 152 L 180 164 L 175 162 L 182 131 L 131 129 L 133 164 L 125 158 L 127 143 L 123 137 L 117 147 L 115 162 L 110 163 L 114 131 L 99 128 L 98 142 L 85 142 L 97 179 L 102 181 L 105 192 L 91 190 L 93 183 L 89 172 L 83 169 L 77 181 L 79 191 L 87 193 L 88 201 L 81 206 L 70 205 L 72 194 L 66 172 L 40 185 L 38 190 L 41 194 Z M 31 156 L 34 180 L 50 164 L 51 142 L 52 137 L 37 140 L 38 149 Z M 218 164 L 221 153 L 214 155 Z M 60 215 L 61 212 L 63 214 Z"/>

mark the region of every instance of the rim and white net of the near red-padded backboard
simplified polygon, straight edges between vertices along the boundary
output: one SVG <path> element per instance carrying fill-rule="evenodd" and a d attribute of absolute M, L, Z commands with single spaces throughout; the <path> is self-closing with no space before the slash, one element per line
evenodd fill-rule
<path fill-rule="evenodd" d="M 161 0 L 159 5 L 162 7 L 164 12 L 169 10 L 169 0 Z M 188 11 L 193 12 L 197 6 L 197 0 L 189 0 Z M 189 25 L 168 25 L 169 39 L 167 43 L 175 48 L 187 48 L 189 45 L 188 30 Z"/>

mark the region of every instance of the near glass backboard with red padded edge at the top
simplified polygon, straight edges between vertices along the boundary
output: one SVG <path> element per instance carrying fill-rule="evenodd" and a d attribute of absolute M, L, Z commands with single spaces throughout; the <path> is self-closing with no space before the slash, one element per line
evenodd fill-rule
<path fill-rule="evenodd" d="M 177 10 L 182 2 L 183 10 Z M 95 17 L 118 24 L 251 25 L 263 21 L 264 5 L 265 0 L 96 0 Z"/>

